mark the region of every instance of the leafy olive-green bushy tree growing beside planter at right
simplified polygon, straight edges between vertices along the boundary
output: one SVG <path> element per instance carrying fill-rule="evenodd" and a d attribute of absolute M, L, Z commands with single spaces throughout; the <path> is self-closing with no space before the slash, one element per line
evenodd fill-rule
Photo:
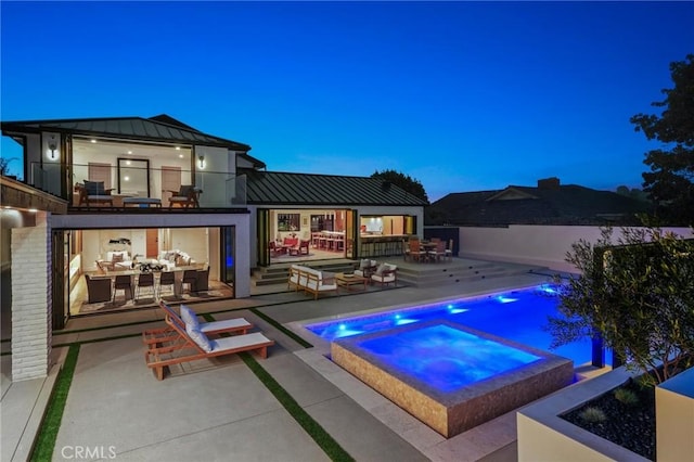
<path fill-rule="evenodd" d="M 627 368 L 664 382 L 694 360 L 694 240 L 658 228 L 612 234 L 567 253 L 580 274 L 560 290 L 552 347 L 597 333 Z"/>

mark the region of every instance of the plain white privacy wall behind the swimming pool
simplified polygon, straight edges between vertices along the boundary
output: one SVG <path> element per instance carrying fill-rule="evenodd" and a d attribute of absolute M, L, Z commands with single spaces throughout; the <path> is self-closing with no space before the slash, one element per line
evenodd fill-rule
<path fill-rule="evenodd" d="M 692 238 L 689 228 L 665 228 Z M 620 235 L 615 228 L 614 239 Z M 599 227 L 513 224 L 507 228 L 460 228 L 460 257 L 547 266 L 556 271 L 576 272 L 565 261 L 571 244 L 580 239 L 595 242 Z"/>

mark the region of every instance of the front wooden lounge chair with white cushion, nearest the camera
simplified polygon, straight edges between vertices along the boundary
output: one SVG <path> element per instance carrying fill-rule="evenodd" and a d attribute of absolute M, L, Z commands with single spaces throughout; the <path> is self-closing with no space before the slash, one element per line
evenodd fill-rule
<path fill-rule="evenodd" d="M 182 324 L 180 319 L 168 312 L 165 321 L 179 338 L 160 347 L 152 348 L 147 345 L 144 352 L 147 368 L 152 369 L 159 381 L 164 380 L 164 369 L 169 365 L 252 350 L 258 350 L 261 358 L 267 358 L 268 347 L 274 345 L 274 341 L 259 332 L 210 339 L 200 329 Z"/>

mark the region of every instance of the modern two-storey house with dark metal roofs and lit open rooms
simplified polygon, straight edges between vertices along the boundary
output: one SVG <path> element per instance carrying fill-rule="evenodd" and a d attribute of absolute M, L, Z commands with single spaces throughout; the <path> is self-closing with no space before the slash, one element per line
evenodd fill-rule
<path fill-rule="evenodd" d="M 130 287 L 112 283 L 95 295 L 104 300 L 136 298 L 143 265 L 155 270 L 155 285 L 159 272 L 175 272 L 177 296 L 196 284 L 183 282 L 185 272 L 198 271 L 198 284 L 219 284 L 243 298 L 250 295 L 253 268 L 272 265 L 275 254 L 291 260 L 292 240 L 310 241 L 316 258 L 357 259 L 395 254 L 402 238 L 423 234 L 425 202 L 396 185 L 266 171 L 248 144 L 166 115 L 3 121 L 1 128 L 23 147 L 22 182 L 67 203 L 65 213 L 41 214 L 30 231 L 47 243 L 52 329 L 91 301 L 75 299 L 91 298 L 75 291 L 87 277 L 131 277 Z M 12 268 L 33 251 L 4 247 L 12 248 Z M 13 275 L 14 310 L 26 297 Z M 158 295 L 164 287 L 151 288 Z"/>

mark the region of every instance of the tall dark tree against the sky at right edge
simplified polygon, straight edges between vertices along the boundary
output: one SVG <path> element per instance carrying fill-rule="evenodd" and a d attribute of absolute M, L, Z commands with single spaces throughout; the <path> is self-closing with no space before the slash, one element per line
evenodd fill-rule
<path fill-rule="evenodd" d="M 663 89 L 659 116 L 637 114 L 630 121 L 648 140 L 665 144 L 645 154 L 644 191 L 656 202 L 659 217 L 678 224 L 694 223 L 694 54 L 670 63 L 674 87 Z"/>

